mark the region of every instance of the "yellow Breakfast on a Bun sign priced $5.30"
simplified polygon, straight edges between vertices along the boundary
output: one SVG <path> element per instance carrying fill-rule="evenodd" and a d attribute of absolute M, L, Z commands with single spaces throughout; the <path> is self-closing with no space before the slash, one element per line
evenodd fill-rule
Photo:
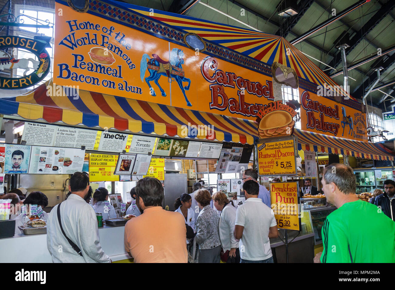
<path fill-rule="evenodd" d="M 300 230 L 297 182 L 270 183 L 270 198 L 277 228 Z"/>

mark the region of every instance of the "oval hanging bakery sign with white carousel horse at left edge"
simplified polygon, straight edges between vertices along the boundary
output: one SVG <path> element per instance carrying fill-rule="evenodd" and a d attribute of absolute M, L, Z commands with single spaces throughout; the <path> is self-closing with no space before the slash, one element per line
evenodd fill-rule
<path fill-rule="evenodd" d="M 46 50 L 48 46 L 49 43 L 39 39 L 20 36 L 0 37 L 0 71 L 23 70 L 21 77 L 1 76 L 0 88 L 6 90 L 28 88 L 44 79 L 51 67 L 51 58 Z M 12 51 L 12 48 L 30 51 L 37 56 L 37 60 L 34 58 L 15 59 L 8 53 L 8 51 Z M 15 74 L 13 73 L 12 75 Z"/>

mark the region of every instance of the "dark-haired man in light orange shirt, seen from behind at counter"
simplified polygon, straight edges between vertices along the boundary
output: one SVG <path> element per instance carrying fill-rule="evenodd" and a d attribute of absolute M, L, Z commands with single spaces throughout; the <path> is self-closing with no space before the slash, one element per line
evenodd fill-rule
<path fill-rule="evenodd" d="M 141 210 L 125 225 L 125 249 L 136 263 L 186 263 L 185 220 L 162 208 L 164 191 L 156 178 L 139 180 L 135 191 Z M 137 202 L 136 202 L 137 204 Z"/>

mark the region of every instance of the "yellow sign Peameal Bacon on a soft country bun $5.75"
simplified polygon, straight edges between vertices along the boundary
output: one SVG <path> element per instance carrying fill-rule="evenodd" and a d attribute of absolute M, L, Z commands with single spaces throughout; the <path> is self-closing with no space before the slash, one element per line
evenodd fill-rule
<path fill-rule="evenodd" d="M 296 175 L 295 140 L 259 143 L 259 175 Z"/>

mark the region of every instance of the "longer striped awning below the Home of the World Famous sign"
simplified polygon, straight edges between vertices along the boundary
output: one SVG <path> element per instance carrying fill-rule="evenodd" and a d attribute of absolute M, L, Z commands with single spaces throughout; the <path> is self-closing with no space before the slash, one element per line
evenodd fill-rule
<path fill-rule="evenodd" d="M 84 90 L 63 89 L 63 96 L 48 80 L 34 90 L 17 97 L 0 98 L 0 114 L 18 115 L 26 120 L 44 119 L 49 123 L 62 121 L 68 125 L 85 125 L 102 129 L 114 128 L 132 133 L 199 138 L 225 142 L 254 144 L 258 138 L 258 124 L 251 120 L 219 114 L 187 110 L 146 101 L 127 99 Z M 202 130 L 188 130 L 188 124 L 200 129 L 204 126 L 214 134 Z M 200 127 L 199 127 L 200 126 Z M 200 133 L 200 134 L 199 134 Z"/>

